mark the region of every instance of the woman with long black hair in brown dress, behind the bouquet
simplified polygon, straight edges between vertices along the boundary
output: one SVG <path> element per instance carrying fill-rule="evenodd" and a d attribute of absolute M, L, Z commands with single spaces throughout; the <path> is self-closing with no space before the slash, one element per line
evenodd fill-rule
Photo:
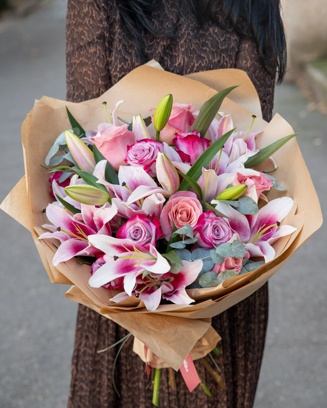
<path fill-rule="evenodd" d="M 67 99 L 96 98 L 129 71 L 150 59 L 176 74 L 219 68 L 244 70 L 270 120 L 275 75 L 285 68 L 285 38 L 277 0 L 68 0 Z M 221 335 L 218 364 L 222 390 L 200 364 L 201 387 L 189 393 L 176 374 L 177 391 L 162 370 L 159 406 L 250 408 L 253 406 L 268 319 L 267 284 L 212 319 Z M 151 407 L 144 364 L 124 347 L 116 368 L 113 348 L 126 330 L 80 305 L 68 408 Z"/>

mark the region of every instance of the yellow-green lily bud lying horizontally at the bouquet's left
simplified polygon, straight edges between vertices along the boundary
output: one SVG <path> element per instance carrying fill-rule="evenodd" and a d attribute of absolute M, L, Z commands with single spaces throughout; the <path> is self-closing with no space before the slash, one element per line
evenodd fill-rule
<path fill-rule="evenodd" d="M 76 184 L 75 186 L 65 187 L 65 192 L 73 200 L 87 205 L 103 205 L 110 199 L 108 192 L 88 184 Z"/>

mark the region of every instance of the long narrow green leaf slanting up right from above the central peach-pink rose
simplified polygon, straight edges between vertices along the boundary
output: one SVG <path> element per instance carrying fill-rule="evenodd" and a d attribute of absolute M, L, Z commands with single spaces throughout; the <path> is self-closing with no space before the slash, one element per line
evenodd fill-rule
<path fill-rule="evenodd" d="M 206 149 L 202 155 L 196 160 L 196 162 L 192 165 L 192 167 L 188 170 L 187 176 L 191 179 L 198 181 L 199 177 L 202 174 L 202 167 L 207 167 L 211 160 L 215 157 L 215 155 L 219 152 L 219 150 L 224 146 L 226 140 L 229 136 L 232 135 L 235 128 L 231 131 L 225 133 L 225 135 L 219 137 L 218 140 L 213 142 L 208 149 Z M 188 182 L 184 179 L 179 186 L 179 191 L 189 190 L 191 187 L 189 186 Z"/>

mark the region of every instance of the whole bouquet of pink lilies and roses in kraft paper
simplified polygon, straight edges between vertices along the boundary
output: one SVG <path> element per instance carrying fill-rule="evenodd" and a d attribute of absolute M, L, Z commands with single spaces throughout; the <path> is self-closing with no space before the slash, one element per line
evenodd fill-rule
<path fill-rule="evenodd" d="M 290 126 L 262 120 L 244 73 L 212 73 L 142 66 L 93 101 L 36 101 L 22 128 L 26 176 L 2 203 L 32 232 L 50 279 L 128 329 L 159 375 L 185 374 L 190 352 L 214 349 L 210 318 L 321 224 Z M 245 89 L 217 92 L 220 82 Z"/>

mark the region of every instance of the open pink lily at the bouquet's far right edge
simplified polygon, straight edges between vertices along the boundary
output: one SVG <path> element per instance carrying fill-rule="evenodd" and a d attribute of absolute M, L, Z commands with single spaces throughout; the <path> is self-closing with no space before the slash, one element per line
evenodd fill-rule
<path fill-rule="evenodd" d="M 297 228 L 280 225 L 291 211 L 294 201 L 290 197 L 276 198 L 268 202 L 254 216 L 244 216 L 229 204 L 211 201 L 216 209 L 225 214 L 226 221 L 233 231 L 238 233 L 251 256 L 263 256 L 266 262 L 274 259 L 275 250 L 271 246 L 278 238 L 292 234 Z M 279 228 L 278 228 L 279 227 Z"/>

